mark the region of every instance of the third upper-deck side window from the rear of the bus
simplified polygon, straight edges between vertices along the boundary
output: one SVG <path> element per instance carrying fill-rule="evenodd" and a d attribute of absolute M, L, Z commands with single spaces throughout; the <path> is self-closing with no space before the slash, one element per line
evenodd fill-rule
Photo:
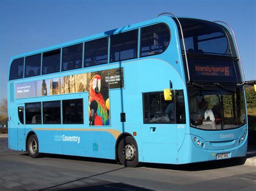
<path fill-rule="evenodd" d="M 60 49 L 43 53 L 42 74 L 59 72 L 60 69 Z"/>

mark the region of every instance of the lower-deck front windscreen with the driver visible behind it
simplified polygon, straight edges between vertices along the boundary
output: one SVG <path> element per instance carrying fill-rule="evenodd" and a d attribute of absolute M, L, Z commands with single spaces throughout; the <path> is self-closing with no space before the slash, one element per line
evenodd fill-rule
<path fill-rule="evenodd" d="M 188 86 L 191 126 L 204 130 L 234 129 L 246 123 L 241 87 Z"/>

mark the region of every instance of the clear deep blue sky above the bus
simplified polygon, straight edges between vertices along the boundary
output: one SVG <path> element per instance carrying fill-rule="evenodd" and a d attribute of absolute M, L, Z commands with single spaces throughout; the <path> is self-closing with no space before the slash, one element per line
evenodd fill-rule
<path fill-rule="evenodd" d="M 237 36 L 246 80 L 256 80 L 255 0 L 0 0 L 0 100 L 11 56 L 156 18 L 223 20 Z"/>

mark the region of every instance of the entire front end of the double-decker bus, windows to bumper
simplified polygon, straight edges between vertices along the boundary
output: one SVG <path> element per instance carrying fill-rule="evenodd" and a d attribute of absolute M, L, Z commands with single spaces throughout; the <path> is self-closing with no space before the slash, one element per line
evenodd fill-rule
<path fill-rule="evenodd" d="M 179 18 L 179 22 L 185 44 L 181 52 L 190 132 L 178 151 L 178 163 L 242 157 L 247 151 L 248 125 L 234 37 L 217 23 L 189 18 Z"/>

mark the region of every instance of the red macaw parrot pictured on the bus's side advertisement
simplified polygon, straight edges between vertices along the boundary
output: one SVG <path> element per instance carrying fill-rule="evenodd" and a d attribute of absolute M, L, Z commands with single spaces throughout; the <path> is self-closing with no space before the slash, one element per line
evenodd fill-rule
<path fill-rule="evenodd" d="M 102 94 L 100 94 L 100 75 L 95 75 L 90 81 L 89 89 L 89 122 L 90 125 L 106 125 L 107 108 Z"/>

